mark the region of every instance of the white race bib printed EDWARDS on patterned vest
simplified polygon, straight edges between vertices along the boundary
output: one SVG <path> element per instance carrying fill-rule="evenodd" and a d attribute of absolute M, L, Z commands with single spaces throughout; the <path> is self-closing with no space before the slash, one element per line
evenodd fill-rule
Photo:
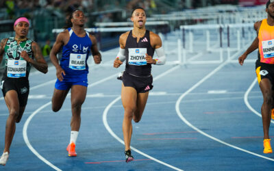
<path fill-rule="evenodd" d="M 26 76 L 27 62 L 25 60 L 8 60 L 7 76 L 20 78 Z"/>

